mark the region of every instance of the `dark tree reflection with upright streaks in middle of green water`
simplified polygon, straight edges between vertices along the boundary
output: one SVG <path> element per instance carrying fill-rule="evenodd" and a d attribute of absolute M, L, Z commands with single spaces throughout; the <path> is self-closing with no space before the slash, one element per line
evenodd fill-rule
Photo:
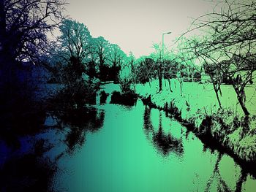
<path fill-rule="evenodd" d="M 183 154 L 183 145 L 181 139 L 176 139 L 172 135 L 165 134 L 162 130 L 162 113 L 159 112 L 159 127 L 158 131 L 155 131 L 151 123 L 151 108 L 145 107 L 144 112 L 144 123 L 143 127 L 146 133 L 146 137 L 149 140 L 152 140 L 154 146 L 157 147 L 157 150 L 162 155 L 168 155 L 170 152 L 176 153 L 180 156 Z"/>

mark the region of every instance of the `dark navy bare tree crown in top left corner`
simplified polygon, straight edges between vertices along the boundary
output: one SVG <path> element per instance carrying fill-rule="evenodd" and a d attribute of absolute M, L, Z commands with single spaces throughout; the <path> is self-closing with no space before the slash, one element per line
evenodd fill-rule
<path fill-rule="evenodd" d="M 64 0 L 1 0 L 1 65 L 15 61 L 37 62 L 48 47 L 47 33 L 61 22 Z"/>

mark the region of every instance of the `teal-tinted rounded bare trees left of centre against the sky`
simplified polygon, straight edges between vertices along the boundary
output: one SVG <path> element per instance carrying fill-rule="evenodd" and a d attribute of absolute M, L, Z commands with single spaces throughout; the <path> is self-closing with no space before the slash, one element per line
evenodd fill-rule
<path fill-rule="evenodd" d="M 65 66 L 70 58 L 75 58 L 74 70 L 78 70 L 81 77 L 86 74 L 90 79 L 118 82 L 118 72 L 127 59 L 118 45 L 110 44 L 103 37 L 91 37 L 88 28 L 75 20 L 63 20 L 59 30 L 61 35 L 54 46 L 52 66 L 56 63 Z"/>

